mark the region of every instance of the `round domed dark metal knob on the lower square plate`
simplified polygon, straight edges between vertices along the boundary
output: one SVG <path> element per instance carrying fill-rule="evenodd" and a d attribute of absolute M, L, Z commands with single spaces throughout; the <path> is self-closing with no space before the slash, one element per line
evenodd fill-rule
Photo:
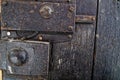
<path fill-rule="evenodd" d="M 28 58 L 28 53 L 21 48 L 12 49 L 8 54 L 8 59 L 10 63 L 14 64 L 15 66 L 21 66 L 25 64 L 27 58 Z"/>

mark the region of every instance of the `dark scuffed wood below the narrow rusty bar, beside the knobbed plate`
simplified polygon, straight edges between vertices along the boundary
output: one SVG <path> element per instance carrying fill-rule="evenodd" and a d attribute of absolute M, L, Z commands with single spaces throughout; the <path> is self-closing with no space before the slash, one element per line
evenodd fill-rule
<path fill-rule="evenodd" d="M 91 80 L 95 27 L 77 25 L 71 42 L 53 45 L 52 80 Z"/>

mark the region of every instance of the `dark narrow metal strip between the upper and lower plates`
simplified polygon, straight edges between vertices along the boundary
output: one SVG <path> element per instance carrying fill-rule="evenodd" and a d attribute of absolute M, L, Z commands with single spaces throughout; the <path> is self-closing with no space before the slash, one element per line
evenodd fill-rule
<path fill-rule="evenodd" d="M 45 33 L 38 33 L 37 35 L 33 35 L 35 32 L 31 31 L 1 31 L 1 38 L 2 39 L 19 39 L 19 40 L 37 40 L 37 41 L 47 41 L 47 42 L 67 42 L 71 41 L 73 38 L 72 34 L 45 34 Z M 10 35 L 8 35 L 10 34 Z M 33 37 L 31 36 L 33 35 Z M 29 37 L 31 36 L 31 37 Z"/>

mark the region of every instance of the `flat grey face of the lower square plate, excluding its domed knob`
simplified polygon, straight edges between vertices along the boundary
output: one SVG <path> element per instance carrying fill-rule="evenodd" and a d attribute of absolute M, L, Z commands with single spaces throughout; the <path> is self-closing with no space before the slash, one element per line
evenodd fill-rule
<path fill-rule="evenodd" d="M 2 47 L 2 46 L 0 46 Z M 26 63 L 16 66 L 10 62 L 8 56 L 10 51 L 16 48 L 24 49 L 28 55 Z M 37 41 L 8 41 L 6 44 L 6 70 L 8 74 L 19 75 L 48 75 L 49 68 L 49 43 Z M 2 60 L 5 61 L 5 60 Z M 14 59 L 15 61 L 15 59 Z"/>

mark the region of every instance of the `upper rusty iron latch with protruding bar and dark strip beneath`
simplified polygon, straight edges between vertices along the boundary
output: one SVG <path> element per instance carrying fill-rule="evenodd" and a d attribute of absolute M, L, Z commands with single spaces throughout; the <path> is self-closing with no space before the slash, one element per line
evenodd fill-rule
<path fill-rule="evenodd" d="M 24 40 L 35 36 L 34 39 L 42 41 L 69 41 L 75 33 L 76 23 L 94 22 L 95 16 L 76 15 L 76 0 L 2 2 L 2 38 Z M 10 35 L 7 35 L 8 31 Z"/>

